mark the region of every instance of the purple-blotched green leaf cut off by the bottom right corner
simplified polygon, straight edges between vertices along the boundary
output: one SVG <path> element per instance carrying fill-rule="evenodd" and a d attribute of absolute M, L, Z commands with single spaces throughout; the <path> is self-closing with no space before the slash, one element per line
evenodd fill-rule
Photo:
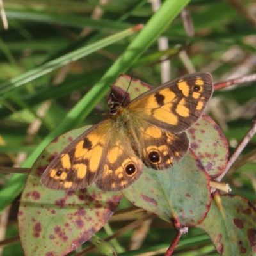
<path fill-rule="evenodd" d="M 212 196 L 202 228 L 222 256 L 256 255 L 256 207 L 237 195 Z"/>

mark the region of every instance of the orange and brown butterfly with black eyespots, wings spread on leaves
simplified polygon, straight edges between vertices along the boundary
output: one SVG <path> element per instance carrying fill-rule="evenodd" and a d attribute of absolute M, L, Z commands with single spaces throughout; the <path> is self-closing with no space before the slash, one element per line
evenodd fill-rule
<path fill-rule="evenodd" d="M 120 191 L 140 177 L 144 166 L 170 168 L 188 151 L 186 129 L 200 118 L 212 91 L 211 74 L 198 72 L 131 102 L 125 96 L 118 100 L 112 92 L 105 119 L 53 159 L 42 184 L 72 191 L 95 183 L 102 191 Z"/>

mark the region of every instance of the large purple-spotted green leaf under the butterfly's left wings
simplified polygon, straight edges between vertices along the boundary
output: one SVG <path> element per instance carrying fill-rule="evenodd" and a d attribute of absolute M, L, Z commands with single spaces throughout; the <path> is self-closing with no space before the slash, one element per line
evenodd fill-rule
<path fill-rule="evenodd" d="M 40 183 L 40 176 L 54 155 L 83 131 L 84 127 L 52 141 L 28 175 L 18 214 L 26 255 L 58 256 L 75 250 L 104 226 L 122 198 L 120 193 L 103 193 L 94 185 L 65 192 Z"/>

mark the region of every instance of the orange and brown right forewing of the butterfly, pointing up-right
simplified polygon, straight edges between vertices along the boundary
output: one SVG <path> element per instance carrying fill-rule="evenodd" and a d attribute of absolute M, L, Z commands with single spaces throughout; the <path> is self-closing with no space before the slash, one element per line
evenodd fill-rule
<path fill-rule="evenodd" d="M 127 108 L 138 118 L 177 133 L 200 118 L 212 90 L 211 74 L 189 74 L 141 94 Z"/>

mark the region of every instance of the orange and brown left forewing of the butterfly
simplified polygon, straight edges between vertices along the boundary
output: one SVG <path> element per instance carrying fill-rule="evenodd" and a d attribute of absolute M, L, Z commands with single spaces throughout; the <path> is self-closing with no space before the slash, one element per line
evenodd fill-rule
<path fill-rule="evenodd" d="M 104 120 L 72 141 L 47 166 L 42 175 L 42 184 L 60 190 L 76 190 L 92 184 L 106 154 L 103 147 L 108 144 L 108 136 L 103 133 L 106 131 L 108 122 Z"/>

